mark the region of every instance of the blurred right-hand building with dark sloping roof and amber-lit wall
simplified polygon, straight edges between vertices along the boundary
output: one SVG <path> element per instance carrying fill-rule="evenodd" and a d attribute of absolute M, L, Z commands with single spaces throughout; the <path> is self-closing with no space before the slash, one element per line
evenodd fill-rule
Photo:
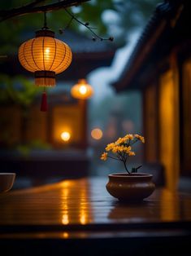
<path fill-rule="evenodd" d="M 167 188 L 191 175 L 191 33 L 189 1 L 159 4 L 119 81 L 119 91 L 140 90 L 145 161 L 165 168 Z"/>

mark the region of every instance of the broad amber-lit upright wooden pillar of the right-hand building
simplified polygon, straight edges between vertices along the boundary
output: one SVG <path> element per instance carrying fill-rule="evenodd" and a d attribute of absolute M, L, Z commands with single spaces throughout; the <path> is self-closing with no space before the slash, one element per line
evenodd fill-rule
<path fill-rule="evenodd" d="M 179 81 L 176 60 L 160 77 L 159 86 L 159 158 L 165 167 L 167 188 L 177 188 L 180 172 Z"/>

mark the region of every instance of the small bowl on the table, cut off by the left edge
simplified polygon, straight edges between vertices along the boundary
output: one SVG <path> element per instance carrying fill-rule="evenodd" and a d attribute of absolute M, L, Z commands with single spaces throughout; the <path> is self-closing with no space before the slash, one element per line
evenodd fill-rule
<path fill-rule="evenodd" d="M 15 173 L 0 173 L 0 192 L 11 190 L 15 182 Z"/>

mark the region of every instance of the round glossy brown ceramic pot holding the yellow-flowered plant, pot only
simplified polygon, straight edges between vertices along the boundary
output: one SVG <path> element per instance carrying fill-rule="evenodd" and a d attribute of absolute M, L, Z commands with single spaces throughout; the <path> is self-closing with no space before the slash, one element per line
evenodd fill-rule
<path fill-rule="evenodd" d="M 154 192 L 152 174 L 109 174 L 106 190 L 119 201 L 142 201 Z"/>

